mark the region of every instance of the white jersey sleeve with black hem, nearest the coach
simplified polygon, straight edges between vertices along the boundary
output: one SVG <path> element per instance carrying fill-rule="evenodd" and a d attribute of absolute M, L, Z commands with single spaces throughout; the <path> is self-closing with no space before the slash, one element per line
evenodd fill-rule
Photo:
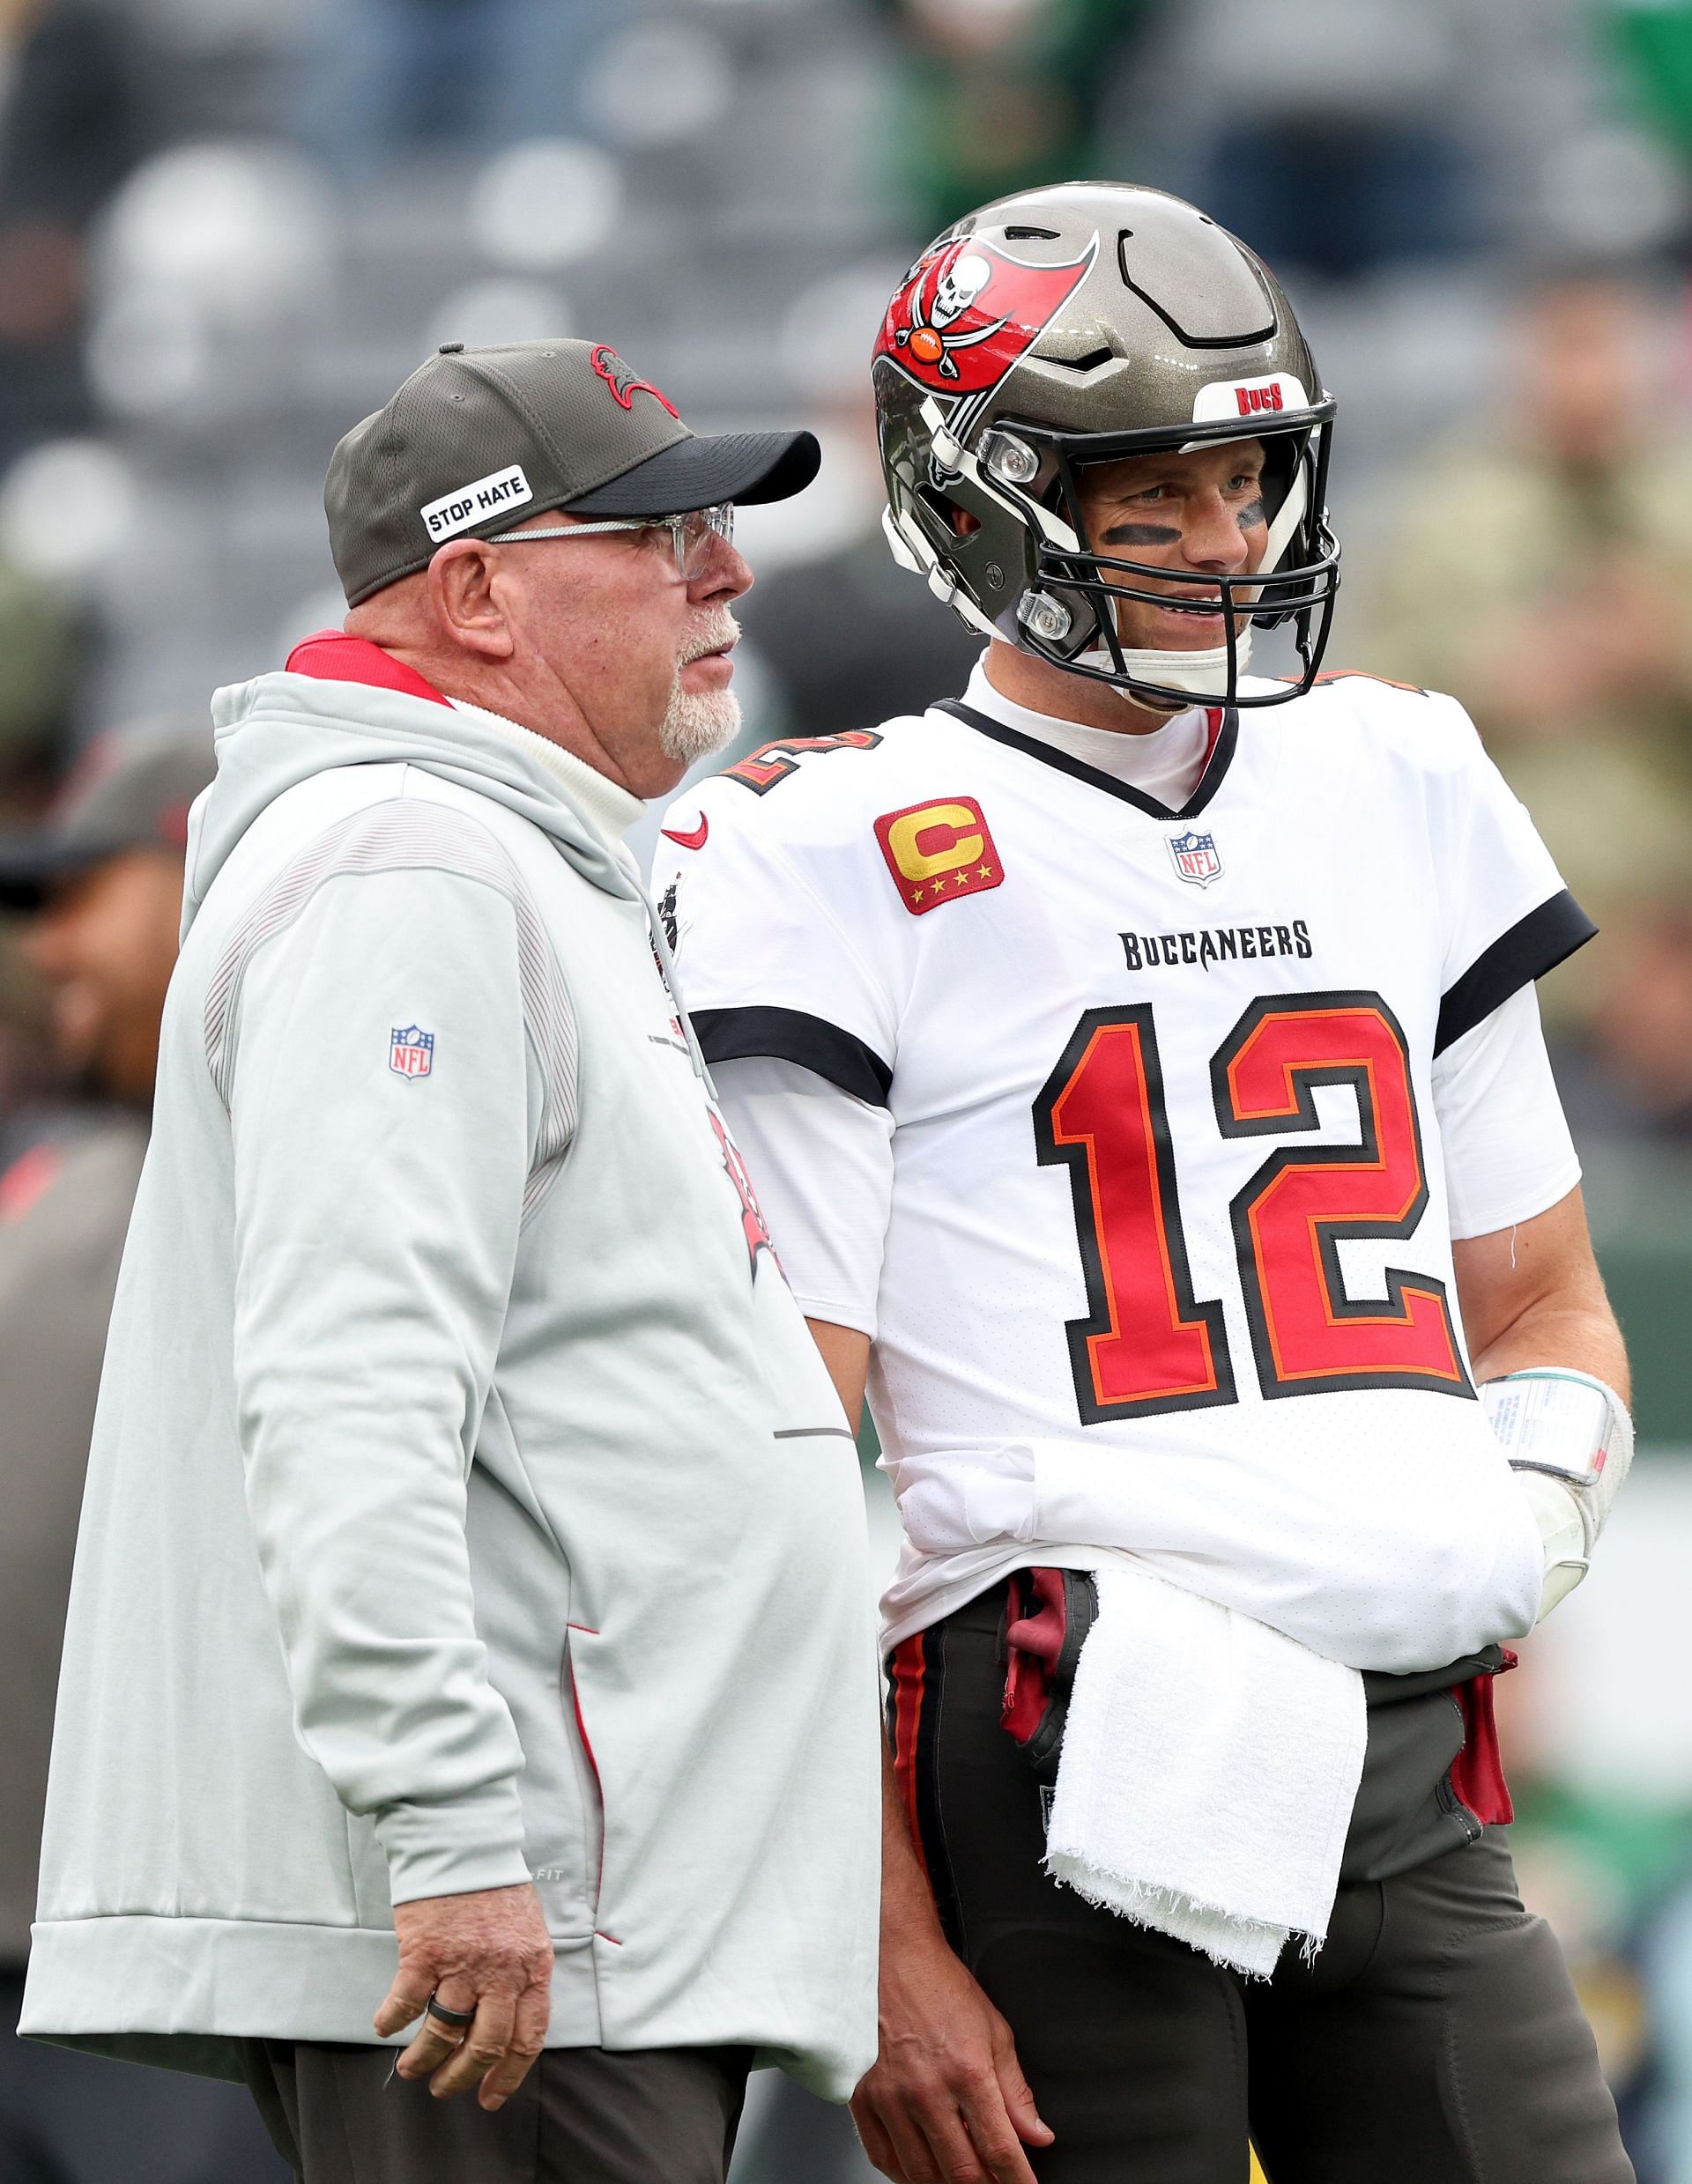
<path fill-rule="evenodd" d="M 731 821 L 731 808 L 707 808 L 696 850 L 664 836 L 653 858 L 653 893 L 675 924 L 681 1000 L 705 1059 L 797 1061 L 884 1107 L 899 1009 L 865 922 L 854 919 L 849 863 L 806 858 L 801 871 L 766 830 Z"/>

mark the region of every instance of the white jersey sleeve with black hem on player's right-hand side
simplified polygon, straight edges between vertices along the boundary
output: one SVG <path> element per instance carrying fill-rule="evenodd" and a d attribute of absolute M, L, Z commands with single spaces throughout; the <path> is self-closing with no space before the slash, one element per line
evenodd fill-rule
<path fill-rule="evenodd" d="M 1452 699 L 1443 703 L 1461 723 L 1461 758 L 1445 775 L 1434 821 L 1445 904 L 1437 1055 L 1598 930 L 1563 887 L 1533 819 L 1482 751 L 1474 723 Z"/>

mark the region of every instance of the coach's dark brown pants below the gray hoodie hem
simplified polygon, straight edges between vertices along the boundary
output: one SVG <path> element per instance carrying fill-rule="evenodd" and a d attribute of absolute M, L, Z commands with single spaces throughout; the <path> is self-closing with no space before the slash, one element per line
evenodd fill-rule
<path fill-rule="evenodd" d="M 723 2184 L 751 2049 L 548 2049 L 496 2114 L 393 2049 L 253 2040 L 247 2084 L 303 2184 Z"/>

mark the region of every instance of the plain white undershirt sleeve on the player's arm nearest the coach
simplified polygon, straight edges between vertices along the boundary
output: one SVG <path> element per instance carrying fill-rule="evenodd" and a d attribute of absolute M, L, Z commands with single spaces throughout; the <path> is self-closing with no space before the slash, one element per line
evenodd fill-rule
<path fill-rule="evenodd" d="M 799 1310 L 873 1341 L 893 1116 L 795 1061 L 749 1055 L 712 1077 Z"/>

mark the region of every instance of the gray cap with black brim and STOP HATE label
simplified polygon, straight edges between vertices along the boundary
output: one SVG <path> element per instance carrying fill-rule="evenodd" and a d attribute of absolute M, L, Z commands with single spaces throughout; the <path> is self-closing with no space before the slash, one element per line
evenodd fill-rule
<path fill-rule="evenodd" d="M 686 515 L 786 500 L 817 476 L 810 432 L 699 439 L 603 341 L 443 343 L 330 456 L 323 509 L 347 605 L 428 568 L 452 537 L 528 515 Z"/>

